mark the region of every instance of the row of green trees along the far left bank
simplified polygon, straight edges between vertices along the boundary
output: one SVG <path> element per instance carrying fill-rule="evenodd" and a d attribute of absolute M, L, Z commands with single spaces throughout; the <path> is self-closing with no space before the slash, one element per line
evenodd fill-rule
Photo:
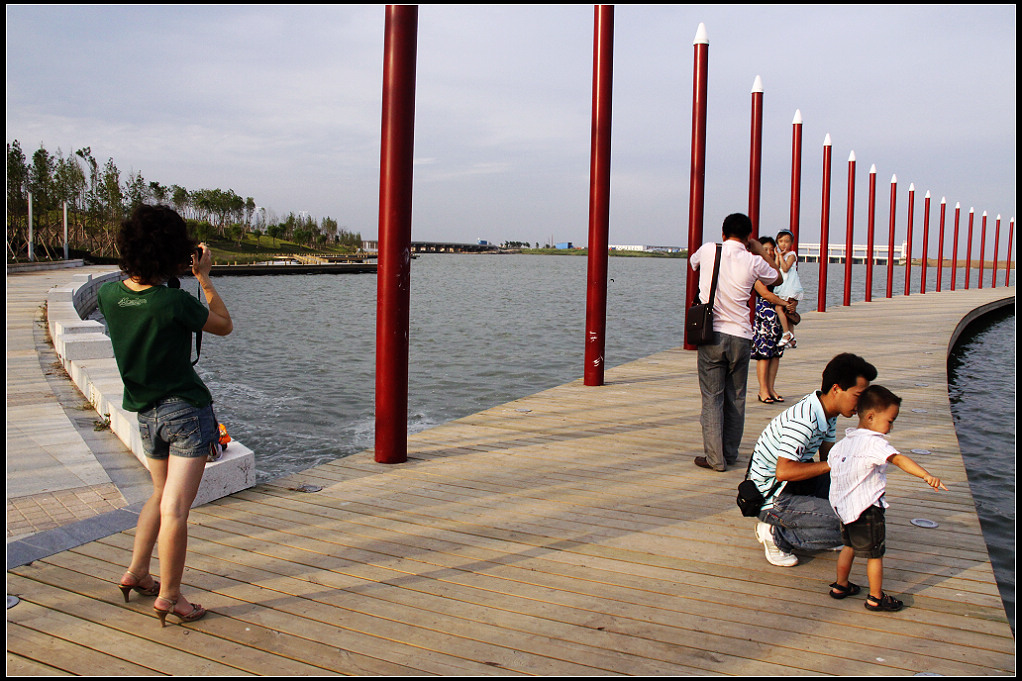
<path fill-rule="evenodd" d="M 193 189 L 146 181 L 142 173 L 122 180 L 112 158 L 100 166 L 90 147 L 64 155 L 52 154 L 40 144 L 28 158 L 17 140 L 7 144 L 7 257 L 28 255 L 29 194 L 32 194 L 33 240 L 37 256 L 62 257 L 63 206 L 67 205 L 67 241 L 76 252 L 99 257 L 117 256 L 114 236 L 121 221 L 137 206 L 173 207 L 200 240 L 233 240 L 245 234 L 266 235 L 310 247 L 357 251 L 362 235 L 338 228 L 325 217 L 290 213 L 284 220 L 268 215 L 251 196 L 242 198 L 233 189 Z"/>

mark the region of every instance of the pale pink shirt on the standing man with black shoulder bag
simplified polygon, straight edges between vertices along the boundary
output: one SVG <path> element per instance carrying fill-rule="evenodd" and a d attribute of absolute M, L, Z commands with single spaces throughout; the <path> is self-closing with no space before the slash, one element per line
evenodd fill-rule
<path fill-rule="evenodd" d="M 716 243 L 704 243 L 689 256 L 689 266 L 699 270 L 699 300 L 709 300 L 713 281 L 713 261 Z M 741 241 L 728 239 L 721 252 L 721 274 L 717 275 L 716 297 L 713 299 L 713 330 L 741 338 L 752 339 L 749 320 L 749 297 L 756 280 L 771 284 L 777 280 L 777 270 L 749 253 Z"/>

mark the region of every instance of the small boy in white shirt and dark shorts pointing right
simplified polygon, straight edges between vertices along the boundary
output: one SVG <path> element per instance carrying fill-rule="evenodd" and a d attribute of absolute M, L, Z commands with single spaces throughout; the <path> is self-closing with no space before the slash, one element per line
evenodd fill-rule
<path fill-rule="evenodd" d="M 858 427 L 848 428 L 844 440 L 830 453 L 830 502 L 841 519 L 841 540 L 844 548 L 837 559 L 837 582 L 831 584 L 832 598 L 844 598 L 860 592 L 848 581 L 855 553 L 869 560 L 866 574 L 870 580 L 870 595 L 866 609 L 896 611 L 904 605 L 883 592 L 884 499 L 887 486 L 885 470 L 893 463 L 907 473 L 923 479 L 934 490 L 947 488 L 922 466 L 898 453 L 887 442 L 897 418 L 901 398 L 882 385 L 870 385 L 858 398 Z"/>

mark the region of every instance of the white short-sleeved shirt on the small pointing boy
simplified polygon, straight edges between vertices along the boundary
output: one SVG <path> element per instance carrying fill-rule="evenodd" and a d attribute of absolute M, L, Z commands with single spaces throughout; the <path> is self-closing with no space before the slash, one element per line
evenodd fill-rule
<path fill-rule="evenodd" d="M 887 459 L 897 454 L 887 436 L 869 428 L 848 428 L 844 440 L 827 457 L 831 464 L 830 502 L 841 523 L 858 519 L 863 511 L 887 508 Z"/>

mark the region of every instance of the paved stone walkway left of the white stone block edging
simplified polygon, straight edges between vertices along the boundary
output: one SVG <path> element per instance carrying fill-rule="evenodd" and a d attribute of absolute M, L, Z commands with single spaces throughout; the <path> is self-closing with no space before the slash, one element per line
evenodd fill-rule
<path fill-rule="evenodd" d="M 21 549 L 31 557 L 33 545 L 77 545 L 76 537 L 101 531 L 111 512 L 131 509 L 151 491 L 144 467 L 103 429 L 47 338 L 46 292 L 74 274 L 109 269 L 7 273 L 8 563 L 12 554 L 26 555 Z"/>

